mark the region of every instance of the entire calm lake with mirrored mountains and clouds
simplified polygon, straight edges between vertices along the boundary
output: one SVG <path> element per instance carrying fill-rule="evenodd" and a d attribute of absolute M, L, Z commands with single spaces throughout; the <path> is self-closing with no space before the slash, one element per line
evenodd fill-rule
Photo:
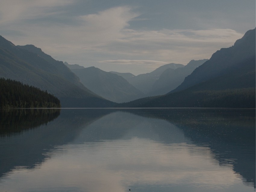
<path fill-rule="evenodd" d="M 0 191 L 255 191 L 255 109 L 0 115 Z"/>

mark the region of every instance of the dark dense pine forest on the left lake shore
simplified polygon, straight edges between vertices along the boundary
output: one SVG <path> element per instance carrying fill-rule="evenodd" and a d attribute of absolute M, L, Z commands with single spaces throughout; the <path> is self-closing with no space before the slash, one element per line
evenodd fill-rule
<path fill-rule="evenodd" d="M 54 95 L 21 82 L 0 78 L 0 108 L 59 108 Z"/>

